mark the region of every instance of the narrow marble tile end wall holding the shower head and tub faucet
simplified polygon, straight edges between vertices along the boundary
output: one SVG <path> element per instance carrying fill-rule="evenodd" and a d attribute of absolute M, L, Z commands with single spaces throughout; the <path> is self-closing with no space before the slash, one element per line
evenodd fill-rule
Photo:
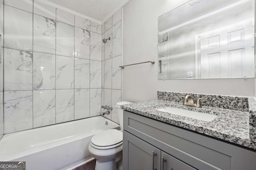
<path fill-rule="evenodd" d="M 102 104 L 113 107 L 105 117 L 119 123 L 116 103 L 122 96 L 122 9 L 102 24 L 102 39 L 108 37 L 110 41 L 102 43 Z"/>

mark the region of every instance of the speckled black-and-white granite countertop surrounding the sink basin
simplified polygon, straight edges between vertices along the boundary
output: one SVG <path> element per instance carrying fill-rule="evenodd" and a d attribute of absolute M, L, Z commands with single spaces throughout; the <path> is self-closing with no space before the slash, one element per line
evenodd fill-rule
<path fill-rule="evenodd" d="M 252 110 L 256 110 L 255 100 L 251 100 L 251 102 L 254 103 L 250 104 L 249 100 L 249 106 L 252 107 Z M 154 108 L 162 106 L 182 108 L 218 116 L 213 121 L 207 122 L 154 110 Z M 198 108 L 183 106 L 182 103 L 178 102 L 152 100 L 147 102 L 122 105 L 121 108 L 133 113 L 137 113 L 139 115 L 168 123 L 170 125 L 175 125 L 198 133 L 203 133 L 211 137 L 216 137 L 224 141 L 242 145 L 244 147 L 256 149 L 256 143 L 251 140 L 249 134 L 249 112 L 251 112 L 250 107 L 250 111 L 247 112 L 206 106 Z"/>

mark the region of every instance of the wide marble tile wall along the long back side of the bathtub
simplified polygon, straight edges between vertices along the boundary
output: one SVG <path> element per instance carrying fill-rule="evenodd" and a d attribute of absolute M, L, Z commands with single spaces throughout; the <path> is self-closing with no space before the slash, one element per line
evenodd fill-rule
<path fill-rule="evenodd" d="M 36 0 L 4 2 L 0 4 L 0 34 L 5 30 L 1 43 L 4 65 L 0 64 L 0 137 L 100 115 L 104 91 L 102 26 Z M 111 66 L 121 61 L 120 20 L 111 23 Z M 116 77 L 120 71 L 108 70 L 108 88 L 115 84 L 113 87 L 121 90 L 121 77 Z M 110 94 L 118 96 L 118 92 Z"/>

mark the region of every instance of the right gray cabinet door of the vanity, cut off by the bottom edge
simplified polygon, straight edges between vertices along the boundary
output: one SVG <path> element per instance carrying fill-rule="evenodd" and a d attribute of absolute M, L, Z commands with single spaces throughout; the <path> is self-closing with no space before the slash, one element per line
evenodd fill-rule
<path fill-rule="evenodd" d="M 161 151 L 161 170 L 196 170 L 192 166 Z"/>

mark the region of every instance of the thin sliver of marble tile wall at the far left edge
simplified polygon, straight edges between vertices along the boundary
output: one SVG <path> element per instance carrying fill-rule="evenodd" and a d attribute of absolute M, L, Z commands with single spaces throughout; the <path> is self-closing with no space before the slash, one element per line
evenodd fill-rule
<path fill-rule="evenodd" d="M 0 139 L 4 135 L 4 4 L 0 0 Z"/>

